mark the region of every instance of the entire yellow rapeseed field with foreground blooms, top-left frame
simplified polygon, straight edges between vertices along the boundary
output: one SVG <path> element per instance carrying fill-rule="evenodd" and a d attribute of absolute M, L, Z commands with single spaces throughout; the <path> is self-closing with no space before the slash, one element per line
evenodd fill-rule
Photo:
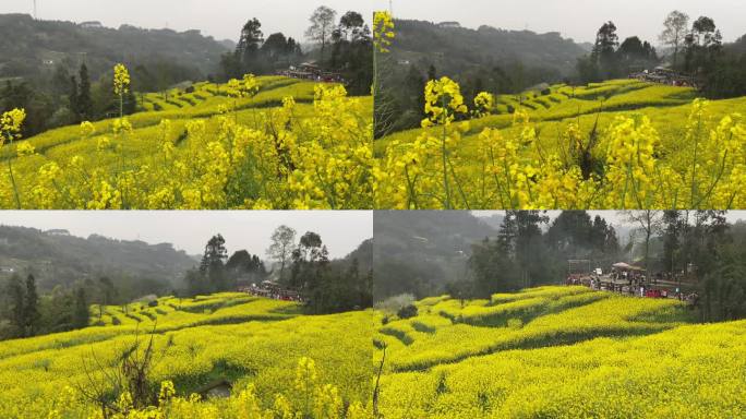
<path fill-rule="evenodd" d="M 255 95 L 208 83 L 146 94 L 124 119 L 7 144 L 0 207 L 371 207 L 372 98 L 255 81 Z"/>

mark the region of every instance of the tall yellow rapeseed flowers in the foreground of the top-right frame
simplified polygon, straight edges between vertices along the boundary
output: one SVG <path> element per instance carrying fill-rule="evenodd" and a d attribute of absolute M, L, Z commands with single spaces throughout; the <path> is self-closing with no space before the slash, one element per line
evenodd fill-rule
<path fill-rule="evenodd" d="M 671 149 L 646 116 L 622 115 L 583 140 L 576 122 L 539 141 L 526 108 L 509 128 L 450 127 L 468 109 L 458 84 L 425 87 L 424 129 L 390 141 L 375 168 L 380 208 L 719 208 L 746 205 L 746 123 L 738 113 L 712 123 L 708 101 L 693 104 L 686 134 Z M 494 106 L 481 93 L 472 115 Z M 477 122 L 477 123 L 482 123 Z M 472 122 L 471 124 L 476 124 Z M 429 127 L 440 125 L 435 133 Z M 462 140 L 466 135 L 468 141 Z M 685 141 L 684 141 L 685 140 Z M 557 142 L 553 140 L 554 142 Z"/>

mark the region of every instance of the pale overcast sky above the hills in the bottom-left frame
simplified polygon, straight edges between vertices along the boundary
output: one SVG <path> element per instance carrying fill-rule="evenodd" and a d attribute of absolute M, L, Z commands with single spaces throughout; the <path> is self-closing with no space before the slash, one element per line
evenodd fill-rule
<path fill-rule="evenodd" d="M 5 0 L 0 0 L 5 1 Z M 173 243 L 202 254 L 213 235 L 221 234 L 229 253 L 245 249 L 264 256 L 275 228 L 321 235 L 332 258 L 344 258 L 373 237 L 373 213 L 365 211 L 236 211 L 236 212 L 0 212 L 0 225 L 41 230 L 68 229 L 74 236 L 97 234 L 121 240 Z"/>

